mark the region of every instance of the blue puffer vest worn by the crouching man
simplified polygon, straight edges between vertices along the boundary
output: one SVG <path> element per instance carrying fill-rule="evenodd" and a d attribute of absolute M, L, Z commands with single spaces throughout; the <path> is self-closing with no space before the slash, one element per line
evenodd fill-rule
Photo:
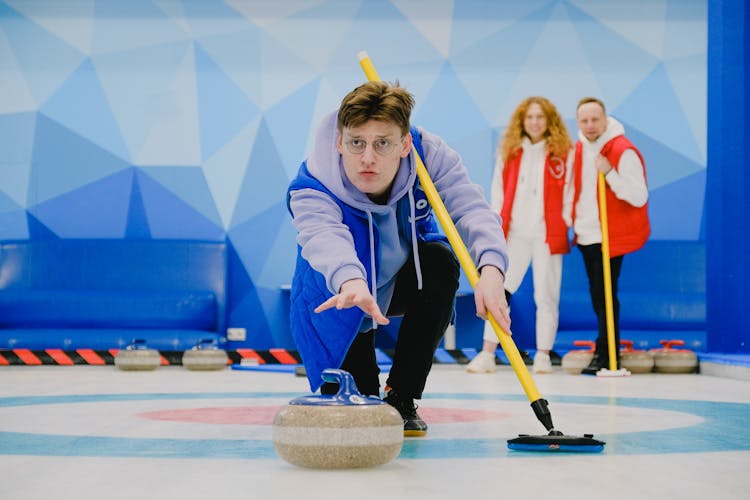
<path fill-rule="evenodd" d="M 421 158 L 424 158 L 419 132 L 411 128 L 414 147 Z M 367 270 L 367 284 L 372 288 L 370 276 L 370 246 L 369 225 L 367 213 L 344 204 L 336 198 L 323 184 L 313 177 L 307 169 L 306 162 L 300 166 L 297 177 L 289 185 L 287 192 L 287 208 L 289 208 L 290 194 L 298 189 L 315 189 L 326 193 L 341 208 L 343 223 L 349 228 L 354 239 L 357 257 Z M 444 241 L 444 236 L 438 233 L 437 224 L 427 196 L 419 184 L 419 178 L 412 188 L 415 204 L 415 219 L 417 238 L 420 241 Z M 411 243 L 409 197 L 401 198 L 397 205 L 399 232 Z M 291 208 L 290 208 L 291 213 Z M 374 227 L 375 268 L 376 272 L 380 260 L 379 234 Z M 413 257 L 412 257 L 413 258 Z M 314 309 L 332 297 L 328 290 L 325 277 L 312 268 L 302 257 L 301 247 L 297 248 L 297 265 L 292 279 L 291 292 L 291 330 L 297 351 L 302 357 L 310 382 L 310 389 L 315 392 L 322 384 L 321 373 L 326 368 L 339 368 L 346 357 L 349 346 L 357 335 L 364 311 L 357 307 L 350 309 L 329 309 L 315 313 Z"/>

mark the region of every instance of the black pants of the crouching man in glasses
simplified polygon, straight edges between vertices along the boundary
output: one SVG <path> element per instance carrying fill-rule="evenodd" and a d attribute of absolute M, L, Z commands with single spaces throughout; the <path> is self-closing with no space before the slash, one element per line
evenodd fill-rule
<path fill-rule="evenodd" d="M 459 267 L 446 244 L 418 243 L 422 290 L 417 290 L 414 257 L 398 272 L 387 316 L 403 316 L 396 339 L 393 366 L 386 384 L 407 398 L 422 397 L 435 350 L 453 316 Z M 354 377 L 362 394 L 380 395 L 380 368 L 375 357 L 375 331 L 354 339 L 341 365 Z M 323 384 L 323 394 L 333 394 L 337 384 Z"/>

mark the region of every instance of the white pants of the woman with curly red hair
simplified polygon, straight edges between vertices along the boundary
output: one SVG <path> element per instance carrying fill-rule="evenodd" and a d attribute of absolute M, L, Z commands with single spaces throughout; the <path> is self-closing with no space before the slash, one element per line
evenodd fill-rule
<path fill-rule="evenodd" d="M 531 264 L 536 304 L 536 348 L 550 350 L 557 335 L 562 255 L 549 253 L 544 235 L 524 238 L 515 237 L 510 233 L 507 243 L 508 270 L 505 274 L 505 289 L 515 293 Z M 498 342 L 489 321 L 485 321 L 484 324 L 484 340 Z"/>

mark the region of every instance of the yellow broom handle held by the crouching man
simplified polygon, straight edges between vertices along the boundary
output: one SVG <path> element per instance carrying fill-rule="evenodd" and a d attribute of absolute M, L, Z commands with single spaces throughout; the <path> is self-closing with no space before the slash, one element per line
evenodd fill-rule
<path fill-rule="evenodd" d="M 358 57 L 359 64 L 362 66 L 362 70 L 365 72 L 367 79 L 369 81 L 380 81 L 380 77 L 375 71 L 375 67 L 372 65 L 372 61 L 370 61 L 367 53 L 360 52 Z M 448 237 L 448 241 L 453 247 L 453 251 L 456 253 L 456 257 L 461 263 L 461 267 L 463 268 L 464 273 L 466 273 L 466 277 L 469 279 L 469 283 L 471 283 L 472 288 L 474 288 L 477 281 L 479 281 L 477 268 L 471 260 L 471 255 L 466 249 L 463 240 L 461 240 L 461 236 L 458 234 L 458 230 L 456 229 L 455 224 L 453 224 L 453 220 L 448 214 L 448 210 L 445 208 L 443 200 L 440 199 L 435 184 L 433 184 L 432 179 L 430 179 L 430 174 L 427 172 L 427 168 L 425 168 L 424 163 L 416 150 L 414 150 L 414 157 L 417 159 L 417 175 L 422 184 L 422 189 L 424 189 L 430 205 L 432 205 L 432 208 L 435 210 L 435 215 L 437 216 L 440 225 L 443 227 L 443 231 L 445 231 L 445 235 Z M 497 321 L 495 321 L 495 318 L 493 318 L 491 314 L 488 313 L 487 318 L 492 325 L 492 328 L 495 330 L 495 335 L 497 335 L 497 339 L 500 341 L 500 345 L 502 346 L 505 355 L 508 357 L 511 367 L 516 372 L 516 376 L 521 382 L 521 386 L 523 386 L 526 396 L 532 403 L 540 399 L 541 396 L 539 395 L 539 391 L 537 390 L 513 339 L 503 331 L 502 327 L 498 325 Z"/>

